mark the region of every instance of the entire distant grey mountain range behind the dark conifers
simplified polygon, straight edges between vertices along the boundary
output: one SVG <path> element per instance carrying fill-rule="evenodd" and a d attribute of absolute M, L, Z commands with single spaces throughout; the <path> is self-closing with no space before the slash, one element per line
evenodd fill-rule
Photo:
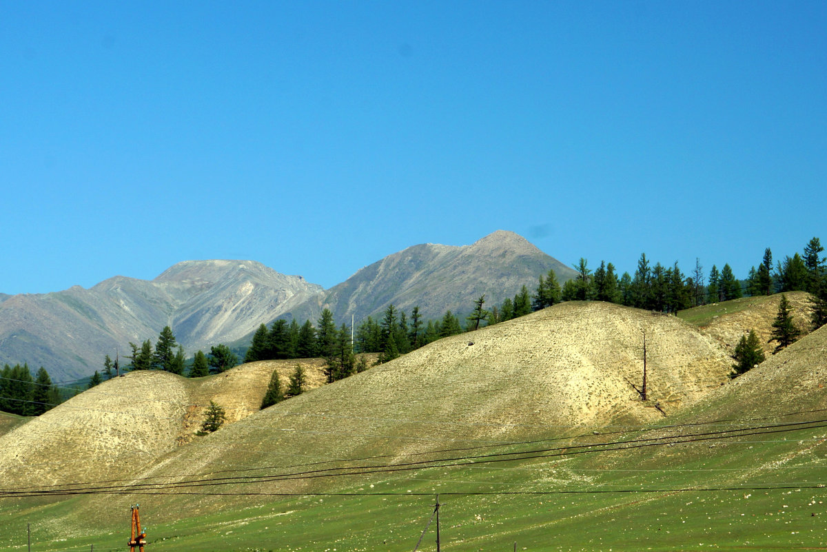
<path fill-rule="evenodd" d="M 381 316 L 390 304 L 423 317 L 471 311 L 513 297 L 554 269 L 560 282 L 575 271 L 523 237 L 496 231 L 472 245 L 414 245 L 370 264 L 324 290 L 301 276 L 249 260 L 184 261 L 146 281 L 116 276 L 92 288 L 0 293 L 0 364 L 44 366 L 54 380 L 88 376 L 103 356 L 128 343 L 155 340 L 164 326 L 191 355 L 218 343 L 244 344 L 262 323 L 279 317 L 315 321 L 327 307 L 338 323 Z"/>

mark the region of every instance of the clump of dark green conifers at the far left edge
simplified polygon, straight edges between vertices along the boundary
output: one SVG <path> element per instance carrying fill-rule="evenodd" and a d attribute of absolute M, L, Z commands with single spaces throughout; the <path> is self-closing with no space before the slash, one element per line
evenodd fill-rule
<path fill-rule="evenodd" d="M 0 411 L 40 416 L 60 402 L 60 390 L 42 366 L 33 378 L 28 364 L 6 364 L 0 370 Z"/>

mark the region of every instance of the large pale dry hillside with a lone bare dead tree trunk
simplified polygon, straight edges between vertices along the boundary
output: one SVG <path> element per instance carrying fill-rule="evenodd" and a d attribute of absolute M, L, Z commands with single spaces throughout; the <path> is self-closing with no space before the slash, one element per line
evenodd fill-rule
<path fill-rule="evenodd" d="M 643 331 L 647 403 L 627 382 L 642 374 Z M 433 450 L 636 426 L 662 419 L 656 402 L 677 412 L 718 388 L 729 364 L 714 340 L 674 316 L 570 302 L 439 340 L 281 402 L 174 450 L 141 477 L 166 480 L 182 467 L 189 474 L 301 470 L 375 454 L 384 463 Z M 308 485 L 329 483 L 238 484 L 232 492 L 296 492 Z M 98 498 L 94 509 L 103 510 L 106 500 Z M 176 500 L 180 504 L 181 497 Z M 192 500 L 194 513 L 214 507 L 212 498 Z M 222 503 L 230 500 L 222 497 Z"/>

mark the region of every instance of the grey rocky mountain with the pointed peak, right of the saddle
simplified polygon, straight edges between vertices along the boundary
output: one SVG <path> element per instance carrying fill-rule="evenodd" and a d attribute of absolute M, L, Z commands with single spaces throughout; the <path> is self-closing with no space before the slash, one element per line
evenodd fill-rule
<path fill-rule="evenodd" d="M 299 321 L 315 321 L 327 307 L 337 322 L 350 324 L 352 315 L 358 324 L 366 316 L 380 317 L 393 303 L 406 313 L 419 307 L 428 320 L 447 310 L 471 312 L 474 300 L 484 293 L 487 308 L 514 297 L 523 285 L 533 293 L 538 277 L 549 269 L 561 284 L 576 275 L 509 231 L 496 231 L 471 245 L 414 245 L 359 270 L 292 315 Z"/>

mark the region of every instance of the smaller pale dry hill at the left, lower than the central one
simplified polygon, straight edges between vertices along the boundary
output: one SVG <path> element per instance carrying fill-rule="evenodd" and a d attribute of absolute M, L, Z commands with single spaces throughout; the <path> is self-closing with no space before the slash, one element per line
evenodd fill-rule
<path fill-rule="evenodd" d="M 323 362 L 300 362 L 308 387 L 322 385 Z M 192 440 L 211 400 L 225 408 L 228 424 L 241 420 L 259 410 L 273 370 L 286 385 L 296 364 L 265 360 L 208 378 L 156 371 L 114 378 L 0 436 L 0 481 L 55 484 L 139 472 Z"/>

